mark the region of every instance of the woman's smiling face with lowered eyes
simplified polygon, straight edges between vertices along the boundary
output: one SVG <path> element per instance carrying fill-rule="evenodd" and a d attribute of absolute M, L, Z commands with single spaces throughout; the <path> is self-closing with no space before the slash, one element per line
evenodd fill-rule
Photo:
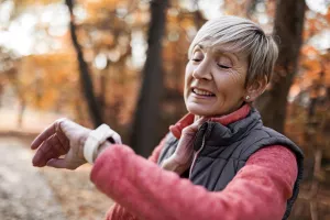
<path fill-rule="evenodd" d="M 186 66 L 185 102 L 196 116 L 222 116 L 241 107 L 246 96 L 248 58 L 221 46 L 198 44 Z"/>

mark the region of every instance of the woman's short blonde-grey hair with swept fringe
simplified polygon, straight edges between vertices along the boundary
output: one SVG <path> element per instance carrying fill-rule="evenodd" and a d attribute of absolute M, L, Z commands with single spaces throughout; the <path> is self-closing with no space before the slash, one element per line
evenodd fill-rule
<path fill-rule="evenodd" d="M 265 34 L 256 23 L 239 18 L 224 15 L 206 22 L 198 31 L 188 51 L 188 57 L 193 50 L 204 41 L 210 46 L 224 45 L 232 53 L 248 56 L 249 68 L 245 86 L 267 77 L 271 80 L 278 48 L 272 35 Z"/>

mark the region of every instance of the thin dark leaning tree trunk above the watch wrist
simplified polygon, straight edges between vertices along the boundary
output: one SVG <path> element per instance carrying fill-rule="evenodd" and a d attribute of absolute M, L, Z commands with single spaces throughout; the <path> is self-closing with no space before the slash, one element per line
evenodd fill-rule
<path fill-rule="evenodd" d="M 94 92 L 94 86 L 92 80 L 90 78 L 88 65 L 84 59 L 84 54 L 81 46 L 78 43 L 77 33 L 76 33 L 76 24 L 75 24 L 75 15 L 73 13 L 74 9 L 74 0 L 65 0 L 66 6 L 68 7 L 69 13 L 70 13 L 70 34 L 72 34 L 72 41 L 75 47 L 75 51 L 77 53 L 77 61 L 79 63 L 79 75 L 80 75 L 80 84 L 81 89 L 84 91 L 84 96 L 87 100 L 89 116 L 92 120 L 92 123 L 95 127 L 100 125 L 103 120 L 100 113 L 100 108 L 97 102 L 95 92 Z"/>

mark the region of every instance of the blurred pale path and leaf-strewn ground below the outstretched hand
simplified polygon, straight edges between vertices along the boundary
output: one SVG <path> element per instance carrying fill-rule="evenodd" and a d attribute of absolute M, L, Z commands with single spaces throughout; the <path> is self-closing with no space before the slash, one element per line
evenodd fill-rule
<path fill-rule="evenodd" d="M 88 165 L 74 172 L 33 167 L 26 138 L 0 135 L 0 155 L 1 220 L 102 219 L 112 204 L 89 180 Z"/>

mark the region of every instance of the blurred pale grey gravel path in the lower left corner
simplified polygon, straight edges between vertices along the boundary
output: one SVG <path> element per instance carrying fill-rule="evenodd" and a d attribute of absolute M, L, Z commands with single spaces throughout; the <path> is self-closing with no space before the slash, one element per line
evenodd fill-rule
<path fill-rule="evenodd" d="M 32 152 L 13 138 L 0 138 L 0 219 L 66 220 Z"/>

